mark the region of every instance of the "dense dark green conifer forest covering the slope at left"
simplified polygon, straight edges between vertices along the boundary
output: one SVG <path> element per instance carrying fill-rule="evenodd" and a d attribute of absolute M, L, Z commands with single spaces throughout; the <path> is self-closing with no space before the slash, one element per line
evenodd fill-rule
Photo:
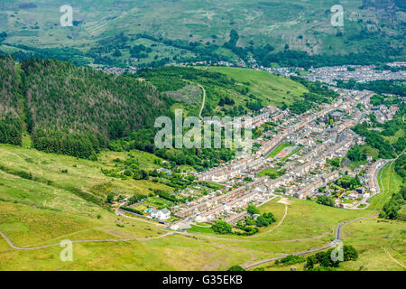
<path fill-rule="evenodd" d="M 2 138 L 1 143 L 21 144 L 14 139 L 21 140 L 18 128 L 26 118 L 33 147 L 89 157 L 110 139 L 152 126 L 166 111 L 159 91 L 142 80 L 60 61 L 23 61 L 21 68 L 16 72 L 11 58 L 1 62 L 6 98 L 0 116 L 15 127 L 5 130 L 15 131 L 14 138 Z"/>

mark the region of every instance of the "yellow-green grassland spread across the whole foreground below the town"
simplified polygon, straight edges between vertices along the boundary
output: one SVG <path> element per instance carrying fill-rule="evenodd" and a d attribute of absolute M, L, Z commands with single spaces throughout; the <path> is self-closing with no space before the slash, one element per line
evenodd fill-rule
<path fill-rule="evenodd" d="M 61 184 L 70 182 L 83 190 L 112 182 L 106 180 L 99 169 L 120 157 L 105 155 L 102 163 L 97 163 L 10 145 L 0 145 L 0 154 L 4 156 L 0 161 L 2 165 L 31 170 L 34 175 L 39 173 L 53 182 L 59 179 Z M 60 172 L 64 168 L 68 168 L 68 174 Z M 115 190 L 119 184 L 128 188 L 127 183 L 128 187 L 139 187 L 138 182 L 114 181 L 111 188 Z M 66 263 L 60 261 L 59 246 L 19 251 L 0 238 L 0 270 L 225 270 L 229 266 L 322 247 L 333 238 L 333 228 L 339 222 L 377 213 L 374 208 L 341 210 L 310 200 L 286 199 L 281 203 L 281 198 L 270 201 L 260 210 L 272 212 L 277 221 L 251 237 L 216 235 L 208 225 L 197 224 L 188 235 L 157 238 L 169 231 L 143 219 L 117 217 L 114 212 L 80 198 L 63 186 L 56 188 L 0 171 L 0 230 L 16 246 L 37 247 L 57 244 L 63 239 L 138 238 L 127 242 L 74 243 L 74 261 Z M 401 223 L 397 222 L 378 223 L 374 219 L 374 222 L 348 225 L 343 238 L 359 249 L 360 259 L 355 265 L 346 265 L 347 268 L 395 269 L 396 263 L 390 265 L 392 259 L 379 247 L 387 248 L 393 257 L 403 261 L 401 239 L 404 235 L 401 234 L 404 234 Z M 374 244 L 374 239 L 379 242 Z M 379 253 L 376 261 L 369 261 L 374 258 L 369 254 L 375 253 Z"/>

